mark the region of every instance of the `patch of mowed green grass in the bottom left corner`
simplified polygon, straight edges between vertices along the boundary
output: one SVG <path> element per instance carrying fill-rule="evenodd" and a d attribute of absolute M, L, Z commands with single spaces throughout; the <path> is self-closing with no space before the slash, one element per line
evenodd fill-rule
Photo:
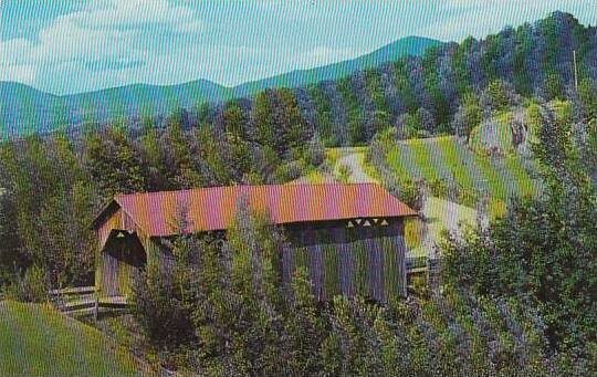
<path fill-rule="evenodd" d="M 139 376 L 100 331 L 49 305 L 0 302 L 0 376 Z"/>

